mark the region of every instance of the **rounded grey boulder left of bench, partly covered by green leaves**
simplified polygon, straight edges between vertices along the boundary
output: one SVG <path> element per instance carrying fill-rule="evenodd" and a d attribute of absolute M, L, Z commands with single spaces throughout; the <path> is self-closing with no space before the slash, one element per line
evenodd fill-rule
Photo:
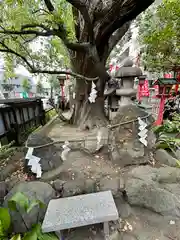
<path fill-rule="evenodd" d="M 37 206 L 32 209 L 32 211 L 27 214 L 22 209 L 19 209 L 19 212 L 23 219 L 26 222 L 28 229 L 31 228 L 32 224 L 37 223 L 37 220 L 43 220 L 47 205 L 52 198 L 55 198 L 54 189 L 47 183 L 44 182 L 24 182 L 16 185 L 6 196 L 4 201 L 4 206 L 8 207 L 8 200 L 17 193 L 22 192 L 28 197 L 30 201 L 37 199 L 45 204 L 44 208 L 38 208 Z M 14 232 L 25 232 L 27 231 L 20 214 L 14 211 L 10 211 L 12 217 L 12 225 Z"/>

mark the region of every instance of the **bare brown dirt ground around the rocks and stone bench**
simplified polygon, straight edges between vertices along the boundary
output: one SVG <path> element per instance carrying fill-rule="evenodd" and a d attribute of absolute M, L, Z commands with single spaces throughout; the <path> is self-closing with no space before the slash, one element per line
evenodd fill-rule
<path fill-rule="evenodd" d="M 59 139 L 63 139 L 63 141 L 73 139 L 80 142 L 83 142 L 82 139 L 86 139 L 86 141 L 90 139 L 92 141 L 96 134 L 97 131 L 81 132 L 69 125 L 60 125 L 59 120 L 53 124 L 48 132 L 48 136 L 54 141 Z M 12 157 L 0 162 L 0 170 L 4 169 L 4 172 L 8 172 L 8 169 L 11 170 L 7 174 L 6 182 L 13 183 L 16 181 L 17 183 L 27 179 L 26 174 L 23 173 L 23 160 L 26 151 L 26 149 L 21 148 Z M 59 168 L 44 173 L 42 181 L 51 182 L 61 179 L 76 183 L 76 180 L 83 178 L 94 181 L 103 179 L 106 183 L 106 179 L 113 180 L 121 177 L 132 167 L 121 169 L 118 165 L 113 164 L 109 159 L 107 148 L 92 155 L 77 150 L 70 152 L 67 160 Z M 116 190 L 114 183 L 112 181 L 112 185 L 108 185 L 107 188 L 115 188 Z M 126 202 L 122 193 L 116 195 L 115 203 L 120 219 L 117 222 L 110 223 L 112 233 L 110 240 L 180 240 L 179 220 L 161 216 L 147 209 L 132 207 Z M 64 232 L 64 240 L 90 239 L 104 239 L 101 224 Z"/>

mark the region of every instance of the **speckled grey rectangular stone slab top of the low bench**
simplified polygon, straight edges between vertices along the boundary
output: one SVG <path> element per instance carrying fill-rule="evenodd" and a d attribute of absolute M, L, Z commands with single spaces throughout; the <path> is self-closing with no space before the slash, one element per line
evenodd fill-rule
<path fill-rule="evenodd" d="M 51 200 L 42 231 L 53 232 L 118 220 L 111 191 Z"/>

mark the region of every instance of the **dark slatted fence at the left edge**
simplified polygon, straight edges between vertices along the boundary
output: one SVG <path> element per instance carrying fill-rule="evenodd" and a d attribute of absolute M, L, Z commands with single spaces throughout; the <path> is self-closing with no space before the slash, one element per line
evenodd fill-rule
<path fill-rule="evenodd" d="M 32 129 L 45 124 L 40 98 L 0 100 L 0 141 L 21 144 Z"/>

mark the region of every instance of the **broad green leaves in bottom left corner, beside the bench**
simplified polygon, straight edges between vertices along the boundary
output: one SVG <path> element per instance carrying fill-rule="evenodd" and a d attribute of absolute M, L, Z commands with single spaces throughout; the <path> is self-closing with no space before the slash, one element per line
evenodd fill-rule
<path fill-rule="evenodd" d="M 17 192 L 8 202 L 9 209 L 17 213 L 19 213 L 19 209 L 23 209 L 26 213 L 29 213 L 35 206 L 43 208 L 44 204 L 39 200 L 29 201 L 29 199 L 20 192 Z M 22 216 L 21 218 L 25 222 Z M 42 233 L 40 223 L 35 224 L 32 229 L 25 234 L 15 235 L 10 233 L 10 225 L 11 218 L 9 210 L 7 208 L 0 208 L 0 240 L 58 240 L 53 233 Z"/>

